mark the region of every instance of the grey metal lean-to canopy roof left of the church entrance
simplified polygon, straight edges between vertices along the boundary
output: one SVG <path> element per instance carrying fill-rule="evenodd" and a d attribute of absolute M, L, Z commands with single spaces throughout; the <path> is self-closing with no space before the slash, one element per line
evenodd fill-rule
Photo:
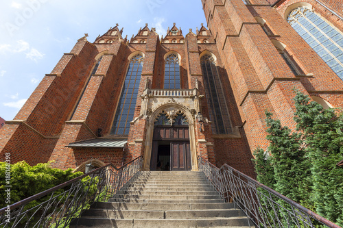
<path fill-rule="evenodd" d="M 104 147 L 104 148 L 123 148 L 128 142 L 126 139 L 117 138 L 94 138 L 80 142 L 71 142 L 66 147 Z"/>

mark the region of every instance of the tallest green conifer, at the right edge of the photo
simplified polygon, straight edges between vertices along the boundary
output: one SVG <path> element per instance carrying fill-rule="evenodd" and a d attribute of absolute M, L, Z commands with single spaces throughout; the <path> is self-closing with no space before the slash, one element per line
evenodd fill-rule
<path fill-rule="evenodd" d="M 335 109 L 324 110 L 308 96 L 296 92 L 294 98 L 297 129 L 303 131 L 307 157 L 311 163 L 316 212 L 343 225 L 343 116 Z"/>

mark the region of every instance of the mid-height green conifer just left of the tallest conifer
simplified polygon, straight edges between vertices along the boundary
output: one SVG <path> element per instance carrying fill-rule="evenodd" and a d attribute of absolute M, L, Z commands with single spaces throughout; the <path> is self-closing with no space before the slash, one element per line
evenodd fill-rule
<path fill-rule="evenodd" d="M 309 207 L 311 181 L 309 162 L 303 149 L 302 134 L 283 127 L 279 120 L 272 119 L 272 113 L 265 112 L 268 152 L 274 167 L 274 189 L 285 197 Z"/>

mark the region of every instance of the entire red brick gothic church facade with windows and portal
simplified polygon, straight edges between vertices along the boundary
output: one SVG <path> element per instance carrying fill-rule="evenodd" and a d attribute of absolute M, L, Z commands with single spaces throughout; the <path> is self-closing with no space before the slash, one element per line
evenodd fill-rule
<path fill-rule="evenodd" d="M 169 155 L 171 169 L 196 170 L 202 155 L 253 176 L 252 151 L 268 147 L 265 110 L 294 127 L 294 88 L 343 107 L 342 63 L 329 66 L 287 22 L 305 7 L 341 36 L 339 0 L 201 3 L 208 28 L 174 24 L 159 38 L 146 26 L 127 39 L 117 25 L 80 38 L 1 128 L 0 159 L 82 170 L 143 155 L 154 170 Z"/>

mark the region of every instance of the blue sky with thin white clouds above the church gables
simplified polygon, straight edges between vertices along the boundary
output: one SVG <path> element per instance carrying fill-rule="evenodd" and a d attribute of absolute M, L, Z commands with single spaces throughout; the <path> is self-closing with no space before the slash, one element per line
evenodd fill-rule
<path fill-rule="evenodd" d="M 84 34 L 93 42 L 119 23 L 131 38 L 148 23 L 165 36 L 176 23 L 185 36 L 206 25 L 200 0 L 0 1 L 0 116 L 6 121 Z"/>

